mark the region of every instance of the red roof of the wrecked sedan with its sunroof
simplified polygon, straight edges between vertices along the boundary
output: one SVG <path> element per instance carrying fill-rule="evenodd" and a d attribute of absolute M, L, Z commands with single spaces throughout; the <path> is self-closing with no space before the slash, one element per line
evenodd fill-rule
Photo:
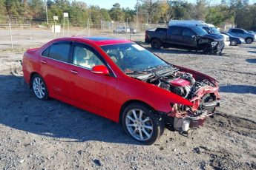
<path fill-rule="evenodd" d="M 74 39 L 81 39 L 85 41 L 90 41 L 98 46 L 112 45 L 112 44 L 124 44 L 133 43 L 127 39 L 114 38 L 114 37 L 100 37 L 100 36 L 72 36 Z"/>

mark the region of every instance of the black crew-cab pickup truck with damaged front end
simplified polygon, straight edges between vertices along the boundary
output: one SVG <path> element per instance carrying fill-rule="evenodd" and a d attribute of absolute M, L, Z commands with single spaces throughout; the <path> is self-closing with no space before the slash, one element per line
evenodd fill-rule
<path fill-rule="evenodd" d="M 225 44 L 222 35 L 208 34 L 195 25 L 173 25 L 145 31 L 145 43 L 152 49 L 178 47 L 188 50 L 203 50 L 206 54 L 221 54 Z"/>

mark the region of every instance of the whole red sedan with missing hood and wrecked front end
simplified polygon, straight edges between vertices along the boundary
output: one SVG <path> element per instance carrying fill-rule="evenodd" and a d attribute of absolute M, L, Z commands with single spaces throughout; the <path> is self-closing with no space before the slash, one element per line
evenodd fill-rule
<path fill-rule="evenodd" d="M 24 52 L 22 67 L 36 98 L 56 98 L 121 122 L 145 144 L 154 143 L 165 126 L 181 133 L 200 126 L 226 102 L 214 78 L 123 39 L 58 38 Z"/>

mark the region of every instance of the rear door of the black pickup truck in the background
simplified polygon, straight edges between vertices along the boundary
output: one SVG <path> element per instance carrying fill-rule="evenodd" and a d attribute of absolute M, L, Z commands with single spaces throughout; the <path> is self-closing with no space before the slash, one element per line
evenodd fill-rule
<path fill-rule="evenodd" d="M 167 30 L 167 44 L 183 44 L 183 27 L 170 26 Z"/>

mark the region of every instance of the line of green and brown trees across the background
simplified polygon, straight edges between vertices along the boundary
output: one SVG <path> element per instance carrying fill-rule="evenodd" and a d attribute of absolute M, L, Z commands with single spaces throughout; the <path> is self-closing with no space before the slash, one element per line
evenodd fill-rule
<path fill-rule="evenodd" d="M 256 29 L 256 3 L 249 4 L 249 0 L 222 0 L 220 4 L 211 2 L 139 0 L 133 9 L 121 7 L 119 3 L 105 9 L 77 0 L 0 0 L 0 20 L 8 15 L 46 22 L 47 9 L 50 22 L 53 16 L 59 16 L 59 21 L 62 21 L 63 13 L 69 13 L 70 24 L 74 26 L 86 25 L 88 19 L 93 24 L 100 24 L 101 21 L 167 23 L 170 19 L 196 19 L 216 26 L 229 23 L 246 30 Z"/>

